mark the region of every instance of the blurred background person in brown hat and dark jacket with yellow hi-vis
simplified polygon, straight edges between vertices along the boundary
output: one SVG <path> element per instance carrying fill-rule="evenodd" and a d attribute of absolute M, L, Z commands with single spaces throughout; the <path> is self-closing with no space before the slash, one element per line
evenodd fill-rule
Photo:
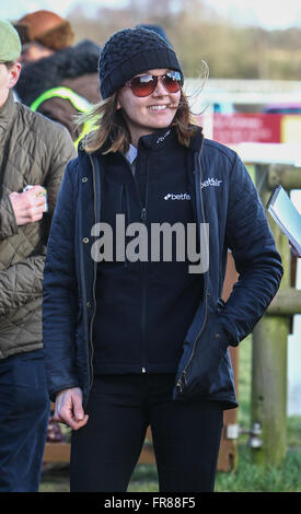
<path fill-rule="evenodd" d="M 71 24 L 51 11 L 35 11 L 14 24 L 23 66 L 15 92 L 21 102 L 68 128 L 76 145 L 82 128 L 73 118 L 100 102 L 100 47 L 88 39 L 73 46 Z"/>

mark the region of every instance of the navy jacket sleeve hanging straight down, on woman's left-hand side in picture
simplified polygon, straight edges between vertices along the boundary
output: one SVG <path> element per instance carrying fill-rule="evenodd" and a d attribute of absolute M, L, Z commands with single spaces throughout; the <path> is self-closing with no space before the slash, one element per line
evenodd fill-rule
<path fill-rule="evenodd" d="M 43 340 L 49 396 L 79 386 L 76 365 L 77 287 L 71 162 L 53 217 L 44 269 Z"/>

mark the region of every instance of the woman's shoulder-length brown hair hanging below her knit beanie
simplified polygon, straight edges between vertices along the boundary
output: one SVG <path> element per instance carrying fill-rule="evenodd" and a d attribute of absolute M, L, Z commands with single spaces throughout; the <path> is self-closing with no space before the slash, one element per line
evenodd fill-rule
<path fill-rule="evenodd" d="M 84 124 L 93 126 L 93 130 L 88 132 L 81 142 L 81 148 L 88 153 L 100 149 L 104 154 L 118 151 L 127 152 L 130 133 L 121 109 L 117 109 L 117 98 L 118 93 L 114 93 L 78 117 L 77 127 L 82 127 Z M 172 126 L 175 127 L 178 142 L 189 147 L 190 138 L 197 128 L 193 122 L 188 102 L 183 91 L 181 91 L 180 104 Z"/>

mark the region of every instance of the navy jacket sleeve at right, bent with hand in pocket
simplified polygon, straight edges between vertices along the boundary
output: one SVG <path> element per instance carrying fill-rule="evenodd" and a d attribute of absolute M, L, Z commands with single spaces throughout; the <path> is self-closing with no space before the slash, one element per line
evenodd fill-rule
<path fill-rule="evenodd" d="M 220 320 L 230 343 L 236 346 L 264 315 L 283 272 L 264 206 L 238 156 L 229 185 L 227 237 L 239 281 L 220 314 Z"/>

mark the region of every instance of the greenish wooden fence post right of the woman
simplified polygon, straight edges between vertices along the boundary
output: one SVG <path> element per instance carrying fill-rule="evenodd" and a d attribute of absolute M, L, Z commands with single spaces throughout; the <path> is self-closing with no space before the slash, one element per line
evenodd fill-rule
<path fill-rule="evenodd" d="M 264 206 L 270 195 L 267 171 L 267 166 L 256 166 L 256 184 L 261 185 L 259 196 Z M 268 221 L 282 257 L 282 290 L 290 287 L 290 248 L 269 215 Z M 287 452 L 288 335 L 289 317 L 285 315 L 264 315 L 253 331 L 251 416 L 252 425 L 258 423 L 262 430 L 262 444 L 252 448 L 252 456 L 261 465 L 278 466 Z"/>

